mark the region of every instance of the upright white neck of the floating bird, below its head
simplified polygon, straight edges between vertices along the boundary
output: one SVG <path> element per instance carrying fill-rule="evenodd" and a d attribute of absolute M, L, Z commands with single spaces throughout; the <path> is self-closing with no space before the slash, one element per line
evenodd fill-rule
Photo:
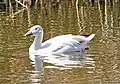
<path fill-rule="evenodd" d="M 39 50 L 41 48 L 42 39 L 43 39 L 43 32 L 35 35 L 35 39 L 29 48 L 29 52 L 35 52 L 35 51 Z"/>

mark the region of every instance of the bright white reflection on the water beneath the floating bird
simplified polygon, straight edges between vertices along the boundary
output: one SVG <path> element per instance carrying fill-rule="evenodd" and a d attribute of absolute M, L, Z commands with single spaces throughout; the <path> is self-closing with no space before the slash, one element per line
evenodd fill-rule
<path fill-rule="evenodd" d="M 30 54 L 29 58 L 35 65 L 35 70 L 40 71 L 43 68 L 43 63 L 48 63 L 44 68 L 72 69 L 84 67 L 86 64 L 94 64 L 92 58 L 85 55 L 85 51 L 71 52 L 64 54 Z M 52 64 L 52 66 L 51 66 Z"/>

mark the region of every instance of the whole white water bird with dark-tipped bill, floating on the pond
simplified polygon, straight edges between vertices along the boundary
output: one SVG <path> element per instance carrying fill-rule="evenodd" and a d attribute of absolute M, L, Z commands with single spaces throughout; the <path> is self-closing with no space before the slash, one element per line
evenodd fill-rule
<path fill-rule="evenodd" d="M 76 52 L 83 50 L 95 34 L 91 34 L 88 37 L 80 35 L 61 35 L 51 38 L 42 43 L 43 29 L 39 25 L 35 25 L 25 34 L 25 36 L 35 36 L 34 42 L 29 48 L 29 53 L 66 53 Z"/>

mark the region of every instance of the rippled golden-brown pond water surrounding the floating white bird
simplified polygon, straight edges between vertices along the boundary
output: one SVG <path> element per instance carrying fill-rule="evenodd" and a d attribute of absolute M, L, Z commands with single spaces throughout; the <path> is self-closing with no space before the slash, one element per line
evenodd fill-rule
<path fill-rule="evenodd" d="M 36 56 L 29 59 L 34 37 L 28 29 L 39 24 L 43 41 L 63 34 L 91 34 L 82 54 Z M 120 84 L 120 3 L 89 3 L 78 8 L 58 5 L 0 13 L 0 84 Z"/>

